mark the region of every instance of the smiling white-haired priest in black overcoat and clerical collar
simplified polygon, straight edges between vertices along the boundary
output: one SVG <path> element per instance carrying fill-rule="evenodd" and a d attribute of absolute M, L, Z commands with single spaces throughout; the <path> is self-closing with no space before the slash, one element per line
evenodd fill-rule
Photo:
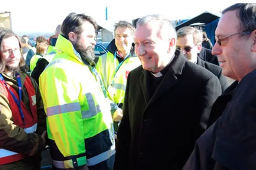
<path fill-rule="evenodd" d="M 221 85 L 176 50 L 170 20 L 151 15 L 137 24 L 142 66 L 128 75 L 114 170 L 180 170 L 206 129 Z"/>

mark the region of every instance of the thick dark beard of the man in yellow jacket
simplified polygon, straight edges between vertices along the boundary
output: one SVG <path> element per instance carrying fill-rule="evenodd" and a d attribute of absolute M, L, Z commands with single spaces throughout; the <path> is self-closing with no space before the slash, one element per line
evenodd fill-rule
<path fill-rule="evenodd" d="M 75 50 L 77 50 L 77 52 L 81 55 L 83 61 L 88 62 L 90 65 L 93 63 L 95 59 L 93 46 L 89 46 L 86 49 L 83 49 L 83 46 L 80 44 L 79 40 L 78 42 L 73 42 L 73 46 Z"/>

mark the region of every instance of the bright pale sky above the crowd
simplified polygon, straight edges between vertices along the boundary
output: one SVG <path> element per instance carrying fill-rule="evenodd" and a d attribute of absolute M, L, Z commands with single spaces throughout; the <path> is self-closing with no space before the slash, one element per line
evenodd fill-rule
<path fill-rule="evenodd" d="M 36 3 L 35 3 L 36 2 Z M 114 22 L 142 17 L 147 14 L 163 14 L 171 20 L 189 19 L 204 11 L 219 14 L 219 11 L 236 3 L 226 0 L 4 0 L 0 11 L 12 12 L 12 27 L 16 32 L 54 32 L 71 12 L 85 13 L 94 19 L 105 20 L 108 6 L 108 19 Z"/>

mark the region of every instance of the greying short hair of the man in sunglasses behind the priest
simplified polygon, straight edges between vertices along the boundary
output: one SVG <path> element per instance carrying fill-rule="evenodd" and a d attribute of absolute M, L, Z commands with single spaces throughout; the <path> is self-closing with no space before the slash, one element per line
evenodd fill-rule
<path fill-rule="evenodd" d="M 202 44 L 203 37 L 202 37 L 202 32 L 198 30 L 197 28 L 194 27 L 182 27 L 179 28 L 177 31 L 177 37 L 184 37 L 186 35 L 192 35 L 193 36 L 193 41 L 195 45 L 200 45 Z"/>

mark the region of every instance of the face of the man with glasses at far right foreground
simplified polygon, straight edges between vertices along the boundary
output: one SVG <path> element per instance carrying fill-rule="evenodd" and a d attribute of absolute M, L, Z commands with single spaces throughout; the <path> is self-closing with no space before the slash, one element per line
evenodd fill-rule
<path fill-rule="evenodd" d="M 236 11 L 228 11 L 221 16 L 215 34 L 221 38 L 240 32 L 239 28 L 240 20 L 236 16 Z M 236 34 L 223 39 L 221 46 L 216 42 L 212 50 L 212 54 L 218 55 L 222 74 L 234 80 L 240 80 L 245 76 L 243 73 L 252 59 L 251 38 L 246 39 L 245 36 L 240 38 L 240 35 Z"/>

